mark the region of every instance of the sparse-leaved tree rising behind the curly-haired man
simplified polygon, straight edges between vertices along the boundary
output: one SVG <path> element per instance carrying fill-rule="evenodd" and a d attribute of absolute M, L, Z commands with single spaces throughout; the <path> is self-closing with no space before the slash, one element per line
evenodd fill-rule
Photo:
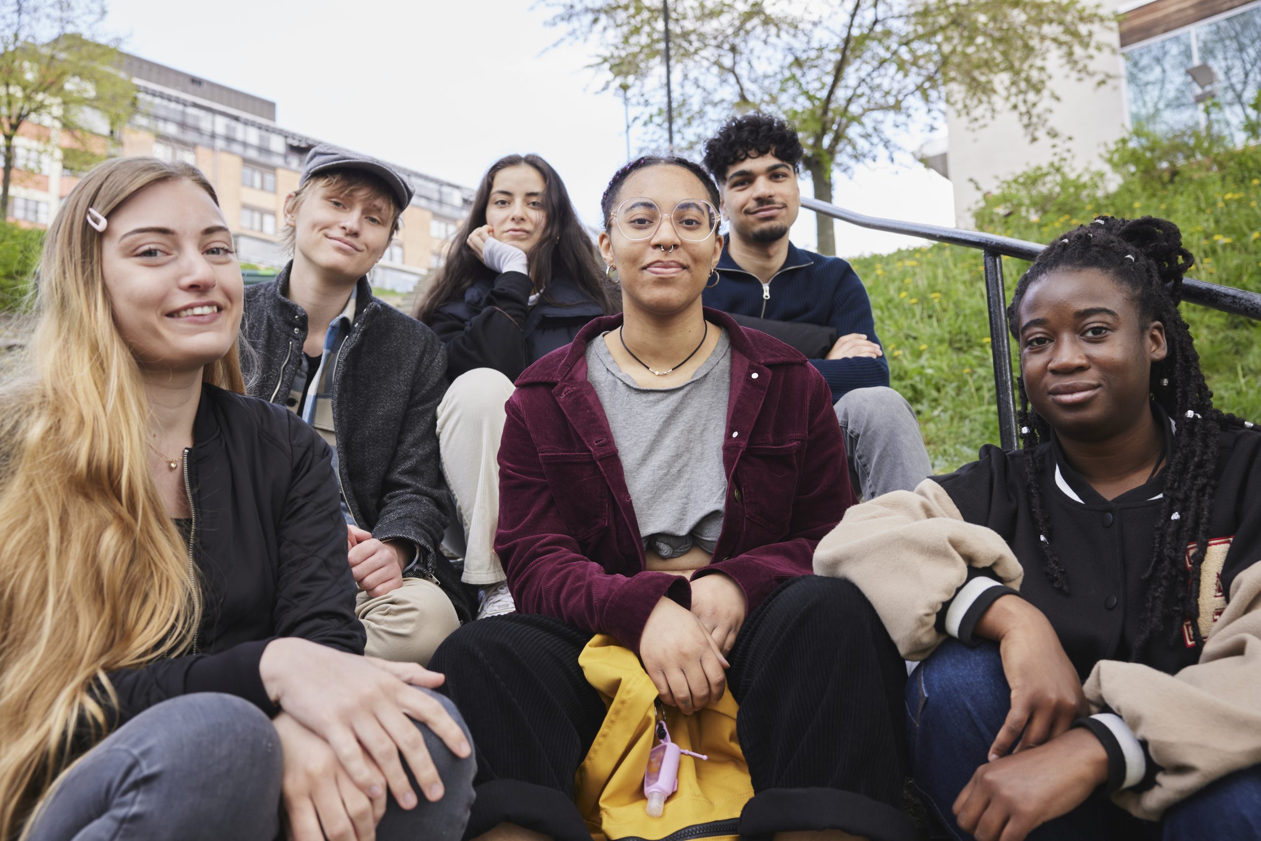
<path fill-rule="evenodd" d="M 627 83 L 644 121 L 666 124 L 662 5 L 541 0 L 561 40 L 596 42 L 607 87 Z M 1107 77 L 1113 19 L 1082 0 L 672 0 L 676 136 L 697 142 L 731 113 L 760 110 L 796 124 L 815 195 L 832 173 L 893 155 L 948 105 L 977 122 L 1014 111 L 1030 139 L 1055 77 Z M 835 252 L 832 221 L 818 248 Z"/>

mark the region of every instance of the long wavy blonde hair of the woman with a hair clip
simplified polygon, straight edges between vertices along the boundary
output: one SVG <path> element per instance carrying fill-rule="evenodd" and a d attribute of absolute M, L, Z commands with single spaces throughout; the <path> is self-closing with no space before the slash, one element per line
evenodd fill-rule
<path fill-rule="evenodd" d="M 195 168 L 110 160 L 62 202 L 35 281 L 28 374 L 0 391 L 0 840 L 24 832 L 72 759 L 103 738 L 106 672 L 182 653 L 200 620 L 175 525 L 149 473 L 149 405 L 101 271 L 108 216 Z M 243 391 L 237 351 L 206 382 Z M 29 828 L 29 827 L 26 827 Z"/>

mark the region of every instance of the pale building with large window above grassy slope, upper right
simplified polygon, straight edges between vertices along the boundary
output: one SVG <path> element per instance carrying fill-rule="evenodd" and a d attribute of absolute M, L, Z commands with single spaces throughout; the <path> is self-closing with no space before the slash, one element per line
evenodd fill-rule
<path fill-rule="evenodd" d="M 1116 49 L 1100 57 L 1106 74 L 1076 81 L 1052 76 L 1040 136 L 1030 142 L 1013 113 L 981 124 L 947 113 L 946 151 L 926 150 L 929 165 L 951 179 L 956 222 L 986 190 L 1029 166 L 1063 158 L 1098 168 L 1106 149 L 1134 126 L 1161 132 L 1209 119 L 1242 142 L 1243 121 L 1261 91 L 1261 0 L 1103 0 L 1119 24 L 1101 33 Z M 934 155 L 934 153 L 938 153 Z"/>

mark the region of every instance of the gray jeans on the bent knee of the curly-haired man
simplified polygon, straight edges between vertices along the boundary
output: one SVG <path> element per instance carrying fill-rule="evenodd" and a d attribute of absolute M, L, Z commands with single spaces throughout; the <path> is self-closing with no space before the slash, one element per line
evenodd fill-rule
<path fill-rule="evenodd" d="M 893 388 L 855 388 L 834 409 L 861 498 L 914 490 L 932 473 L 915 412 Z"/>

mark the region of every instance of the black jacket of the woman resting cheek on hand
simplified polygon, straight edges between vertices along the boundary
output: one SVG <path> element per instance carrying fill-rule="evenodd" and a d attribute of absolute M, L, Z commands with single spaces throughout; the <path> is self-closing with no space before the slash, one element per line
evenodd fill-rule
<path fill-rule="evenodd" d="M 604 310 L 569 277 L 552 277 L 547 298 L 530 306 L 532 281 L 520 271 L 477 280 L 464 300 L 444 304 L 430 319 L 446 345 L 450 380 L 494 368 L 516 380 L 527 367 L 574 340 Z"/>

